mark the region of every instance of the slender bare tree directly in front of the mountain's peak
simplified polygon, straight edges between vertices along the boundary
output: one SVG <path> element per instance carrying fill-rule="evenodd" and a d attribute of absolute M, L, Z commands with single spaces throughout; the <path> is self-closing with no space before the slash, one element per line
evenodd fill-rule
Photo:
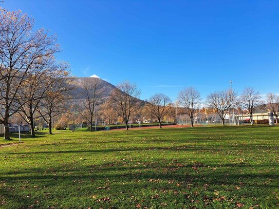
<path fill-rule="evenodd" d="M 81 94 L 85 99 L 82 102 L 82 110 L 78 108 L 78 112 L 90 124 L 90 131 L 92 131 L 92 121 L 96 114 L 96 107 L 100 105 L 102 99 L 101 82 L 102 80 L 99 78 L 84 78 L 80 84 Z"/>

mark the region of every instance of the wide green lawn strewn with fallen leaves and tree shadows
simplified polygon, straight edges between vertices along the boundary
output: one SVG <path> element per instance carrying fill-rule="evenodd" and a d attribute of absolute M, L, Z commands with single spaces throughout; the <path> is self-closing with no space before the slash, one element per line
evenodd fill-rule
<path fill-rule="evenodd" d="M 22 140 L 0 148 L 3 208 L 279 207 L 278 126 L 56 131 Z"/>

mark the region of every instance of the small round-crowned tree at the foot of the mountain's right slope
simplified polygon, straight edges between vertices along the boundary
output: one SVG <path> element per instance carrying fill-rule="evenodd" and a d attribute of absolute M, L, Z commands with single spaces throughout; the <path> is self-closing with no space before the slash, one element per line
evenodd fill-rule
<path fill-rule="evenodd" d="M 162 128 L 162 119 L 171 107 L 171 99 L 163 93 L 156 93 L 148 99 L 148 102 L 150 103 L 149 107 L 152 115 L 158 120 L 160 128 Z"/>

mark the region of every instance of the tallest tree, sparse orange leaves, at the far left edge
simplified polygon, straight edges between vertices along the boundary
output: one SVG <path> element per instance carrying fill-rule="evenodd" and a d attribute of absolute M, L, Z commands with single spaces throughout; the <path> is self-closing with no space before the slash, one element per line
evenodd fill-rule
<path fill-rule="evenodd" d="M 0 11 L 0 122 L 9 125 L 9 118 L 18 110 L 14 102 L 36 63 L 59 50 L 56 38 L 44 29 L 32 32 L 34 20 L 21 11 Z M 5 127 L 5 139 L 9 140 L 9 128 Z"/>

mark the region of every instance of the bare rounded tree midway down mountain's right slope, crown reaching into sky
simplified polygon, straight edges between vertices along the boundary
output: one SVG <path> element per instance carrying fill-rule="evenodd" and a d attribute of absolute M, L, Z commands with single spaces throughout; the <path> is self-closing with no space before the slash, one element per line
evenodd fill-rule
<path fill-rule="evenodd" d="M 121 116 L 126 130 L 128 130 L 129 118 L 140 105 L 140 100 L 138 99 L 140 90 L 135 84 L 128 81 L 124 81 L 116 87 L 110 95 L 111 107 Z"/>

